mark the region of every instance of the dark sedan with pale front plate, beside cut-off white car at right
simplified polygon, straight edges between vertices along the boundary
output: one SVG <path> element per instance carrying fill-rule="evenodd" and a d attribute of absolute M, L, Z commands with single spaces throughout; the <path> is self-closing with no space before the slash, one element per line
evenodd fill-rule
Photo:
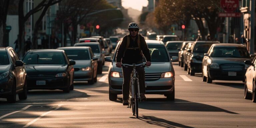
<path fill-rule="evenodd" d="M 242 44 L 213 44 L 203 57 L 203 81 L 241 80 L 244 81 L 246 65 L 250 55 Z"/>

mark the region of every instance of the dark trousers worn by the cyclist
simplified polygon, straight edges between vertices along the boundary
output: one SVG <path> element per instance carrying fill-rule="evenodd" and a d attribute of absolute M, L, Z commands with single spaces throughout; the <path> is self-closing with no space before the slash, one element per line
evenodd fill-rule
<path fill-rule="evenodd" d="M 140 64 L 142 62 L 136 63 Z M 122 68 L 123 70 L 123 100 L 129 99 L 129 87 L 130 87 L 130 80 L 131 80 L 131 73 L 132 67 L 125 67 Z M 140 83 L 140 93 L 145 93 L 145 71 L 143 67 L 136 67 L 136 71 L 138 72 L 139 76 L 139 83 Z"/>

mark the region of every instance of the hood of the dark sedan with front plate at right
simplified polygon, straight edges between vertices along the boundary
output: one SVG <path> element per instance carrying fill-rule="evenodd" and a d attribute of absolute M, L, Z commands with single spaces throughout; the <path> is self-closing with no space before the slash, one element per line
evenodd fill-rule
<path fill-rule="evenodd" d="M 218 64 L 244 64 L 244 61 L 250 60 L 250 58 L 223 58 L 223 57 L 211 57 L 212 63 Z"/>

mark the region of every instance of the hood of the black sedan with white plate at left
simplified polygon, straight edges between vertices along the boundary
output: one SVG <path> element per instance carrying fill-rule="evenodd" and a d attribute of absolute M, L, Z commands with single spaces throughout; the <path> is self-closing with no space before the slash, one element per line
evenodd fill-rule
<path fill-rule="evenodd" d="M 45 65 L 25 65 L 26 71 L 29 75 L 39 73 L 41 74 L 57 74 L 60 72 L 66 72 L 67 65 L 45 64 Z"/>

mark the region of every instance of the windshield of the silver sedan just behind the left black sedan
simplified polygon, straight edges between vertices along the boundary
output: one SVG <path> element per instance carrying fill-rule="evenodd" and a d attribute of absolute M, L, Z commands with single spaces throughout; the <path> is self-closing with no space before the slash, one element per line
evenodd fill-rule
<path fill-rule="evenodd" d="M 64 50 L 71 60 L 90 60 L 89 51 L 87 49 Z"/>

